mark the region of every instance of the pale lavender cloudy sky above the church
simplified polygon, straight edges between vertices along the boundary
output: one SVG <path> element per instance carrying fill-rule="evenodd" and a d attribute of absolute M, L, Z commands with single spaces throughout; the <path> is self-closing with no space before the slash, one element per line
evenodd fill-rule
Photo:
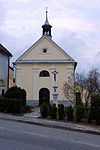
<path fill-rule="evenodd" d="M 11 62 L 42 36 L 45 7 L 52 39 L 77 63 L 100 70 L 100 0 L 0 0 L 0 43 Z"/>

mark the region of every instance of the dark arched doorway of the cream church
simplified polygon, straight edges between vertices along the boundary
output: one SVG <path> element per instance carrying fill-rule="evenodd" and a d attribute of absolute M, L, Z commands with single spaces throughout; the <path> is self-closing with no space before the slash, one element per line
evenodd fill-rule
<path fill-rule="evenodd" d="M 39 105 L 45 103 L 49 104 L 50 101 L 50 91 L 47 88 L 42 88 L 39 91 Z"/>

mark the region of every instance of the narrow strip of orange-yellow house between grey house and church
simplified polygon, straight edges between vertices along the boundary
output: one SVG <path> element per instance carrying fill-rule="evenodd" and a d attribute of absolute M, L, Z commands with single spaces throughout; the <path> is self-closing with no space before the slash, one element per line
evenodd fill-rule
<path fill-rule="evenodd" d="M 9 67 L 9 88 L 14 86 L 14 68 Z"/>

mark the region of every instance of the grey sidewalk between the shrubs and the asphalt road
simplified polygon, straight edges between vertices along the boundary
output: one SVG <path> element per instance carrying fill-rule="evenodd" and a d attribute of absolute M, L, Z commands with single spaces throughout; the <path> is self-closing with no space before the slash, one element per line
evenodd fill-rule
<path fill-rule="evenodd" d="M 93 126 L 88 126 L 88 125 L 80 125 L 80 124 L 67 123 L 67 122 L 62 122 L 62 121 L 36 119 L 36 118 L 25 117 L 25 116 L 24 117 L 23 116 L 13 116 L 13 115 L 4 114 L 4 113 L 0 113 L 0 119 L 14 121 L 14 122 L 29 123 L 29 124 L 33 124 L 33 125 L 40 125 L 40 126 L 63 129 L 63 130 L 79 131 L 79 132 L 84 132 L 84 133 L 100 135 L 100 127 L 99 126 L 93 127 Z"/>

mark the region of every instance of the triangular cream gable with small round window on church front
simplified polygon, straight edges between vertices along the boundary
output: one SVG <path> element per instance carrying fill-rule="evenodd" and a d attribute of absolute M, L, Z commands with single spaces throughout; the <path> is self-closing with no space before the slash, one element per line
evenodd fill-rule
<path fill-rule="evenodd" d="M 73 60 L 46 35 L 32 45 L 17 61 L 22 60 Z"/>

